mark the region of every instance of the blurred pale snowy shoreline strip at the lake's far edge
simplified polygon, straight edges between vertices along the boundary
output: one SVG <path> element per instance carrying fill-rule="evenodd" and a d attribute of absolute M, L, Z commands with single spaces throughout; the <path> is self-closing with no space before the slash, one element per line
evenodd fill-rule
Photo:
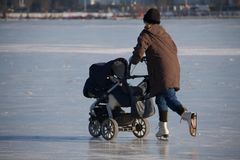
<path fill-rule="evenodd" d="M 130 16 L 127 13 L 115 15 L 112 12 L 59 12 L 59 13 L 0 13 L 0 19 L 142 19 L 142 16 Z M 213 13 L 207 16 L 175 16 L 162 15 L 164 19 L 208 19 L 208 18 L 240 18 L 240 12 Z"/>

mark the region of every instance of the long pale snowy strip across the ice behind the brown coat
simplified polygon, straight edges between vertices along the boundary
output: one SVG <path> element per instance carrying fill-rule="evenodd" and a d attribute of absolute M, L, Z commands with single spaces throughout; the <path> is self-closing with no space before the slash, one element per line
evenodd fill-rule
<path fill-rule="evenodd" d="M 131 47 L 113 47 L 91 44 L 0 44 L 0 53 L 83 53 L 129 54 Z M 240 48 L 187 48 L 180 47 L 179 55 L 240 55 Z M 234 59 L 229 59 L 234 61 Z"/>

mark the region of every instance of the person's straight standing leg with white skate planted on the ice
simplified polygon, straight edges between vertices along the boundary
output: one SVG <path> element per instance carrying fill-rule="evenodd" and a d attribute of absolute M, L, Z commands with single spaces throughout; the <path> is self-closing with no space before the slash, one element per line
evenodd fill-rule
<path fill-rule="evenodd" d="M 168 106 L 166 104 L 164 96 L 157 95 L 155 102 L 158 106 L 158 112 L 159 112 L 159 130 L 156 133 L 156 137 L 162 140 L 167 140 L 169 135 L 169 130 L 167 127 L 167 121 L 168 121 Z"/>

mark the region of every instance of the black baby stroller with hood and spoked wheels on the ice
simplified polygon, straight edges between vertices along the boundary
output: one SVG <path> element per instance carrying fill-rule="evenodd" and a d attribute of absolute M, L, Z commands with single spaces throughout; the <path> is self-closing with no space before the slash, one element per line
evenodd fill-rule
<path fill-rule="evenodd" d="M 83 94 L 96 101 L 90 107 L 88 130 L 91 136 L 114 139 L 119 131 L 130 131 L 137 138 L 145 137 L 150 130 L 148 117 L 155 113 L 148 97 L 148 75 L 130 75 L 131 64 L 124 58 L 107 63 L 96 63 L 89 68 L 89 78 Z M 130 86 L 128 79 L 142 78 L 137 86 Z M 109 95 L 116 97 L 120 106 L 111 108 Z M 124 107 L 131 107 L 126 113 Z"/>

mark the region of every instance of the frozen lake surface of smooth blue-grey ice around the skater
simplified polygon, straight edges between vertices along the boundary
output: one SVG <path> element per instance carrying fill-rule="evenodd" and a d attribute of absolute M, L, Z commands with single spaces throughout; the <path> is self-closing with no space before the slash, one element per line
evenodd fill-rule
<path fill-rule="evenodd" d="M 82 95 L 92 63 L 128 59 L 141 20 L 0 21 L 0 159 L 240 159 L 240 19 L 162 20 L 179 48 L 179 99 L 198 112 L 198 134 L 169 111 L 168 142 L 88 133 Z M 144 65 L 136 72 L 144 72 Z"/>

